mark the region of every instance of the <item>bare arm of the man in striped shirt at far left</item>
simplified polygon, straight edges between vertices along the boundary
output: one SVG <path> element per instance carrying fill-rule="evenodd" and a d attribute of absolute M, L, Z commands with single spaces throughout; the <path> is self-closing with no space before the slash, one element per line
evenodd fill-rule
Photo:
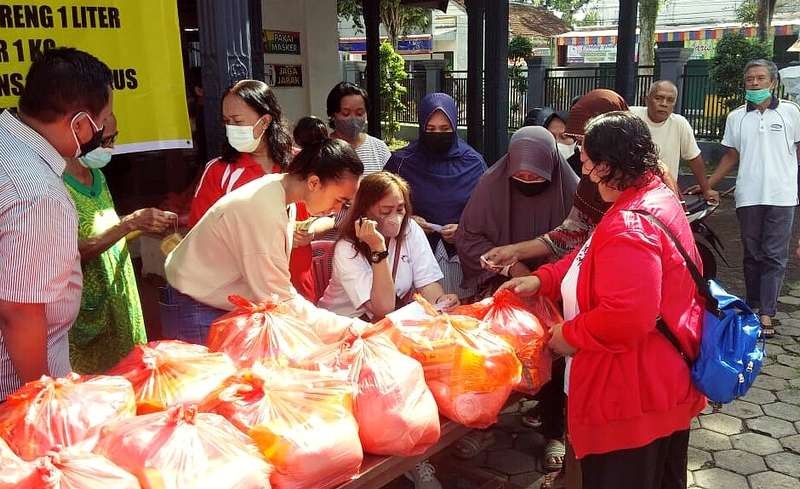
<path fill-rule="evenodd" d="M 23 383 L 50 374 L 44 304 L 0 300 L 0 333 L 11 364 Z"/>

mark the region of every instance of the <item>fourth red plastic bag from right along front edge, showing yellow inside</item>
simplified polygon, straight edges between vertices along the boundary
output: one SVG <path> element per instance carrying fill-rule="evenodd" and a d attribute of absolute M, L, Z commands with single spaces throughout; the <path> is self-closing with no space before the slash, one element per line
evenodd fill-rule
<path fill-rule="evenodd" d="M 249 434 L 275 467 L 278 489 L 328 489 L 358 474 L 364 458 L 346 372 L 255 364 L 200 406 Z"/>

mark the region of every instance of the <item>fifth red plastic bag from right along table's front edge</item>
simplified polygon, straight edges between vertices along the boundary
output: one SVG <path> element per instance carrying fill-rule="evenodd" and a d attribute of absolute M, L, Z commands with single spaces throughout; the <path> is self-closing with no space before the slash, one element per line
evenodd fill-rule
<path fill-rule="evenodd" d="M 95 452 L 144 489 L 264 489 L 272 468 L 222 416 L 177 406 L 107 427 Z"/>

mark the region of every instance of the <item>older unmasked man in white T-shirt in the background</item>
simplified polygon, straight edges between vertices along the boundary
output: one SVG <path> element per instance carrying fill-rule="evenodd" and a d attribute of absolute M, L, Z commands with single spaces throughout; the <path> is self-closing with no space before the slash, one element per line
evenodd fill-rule
<path fill-rule="evenodd" d="M 686 160 L 706 200 L 718 203 L 719 192 L 708 186 L 705 161 L 694 130 L 686 118 L 673 112 L 677 100 L 678 87 L 669 80 L 659 80 L 650 85 L 645 99 L 647 106 L 631 107 L 630 111 L 650 128 L 658 155 L 670 175 L 677 180 L 681 159 Z"/>

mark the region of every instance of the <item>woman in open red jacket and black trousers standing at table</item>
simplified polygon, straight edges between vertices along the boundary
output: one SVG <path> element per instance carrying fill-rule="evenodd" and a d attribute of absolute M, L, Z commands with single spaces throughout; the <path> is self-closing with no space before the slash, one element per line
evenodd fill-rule
<path fill-rule="evenodd" d="M 689 425 L 705 398 L 656 320 L 696 356 L 702 304 L 675 244 L 631 210 L 666 223 L 699 266 L 692 231 L 635 116 L 611 112 L 589 122 L 581 160 L 611 208 L 580 249 L 503 288 L 563 301 L 565 322 L 550 346 L 570 357 L 568 436 L 584 489 L 683 489 Z"/>

